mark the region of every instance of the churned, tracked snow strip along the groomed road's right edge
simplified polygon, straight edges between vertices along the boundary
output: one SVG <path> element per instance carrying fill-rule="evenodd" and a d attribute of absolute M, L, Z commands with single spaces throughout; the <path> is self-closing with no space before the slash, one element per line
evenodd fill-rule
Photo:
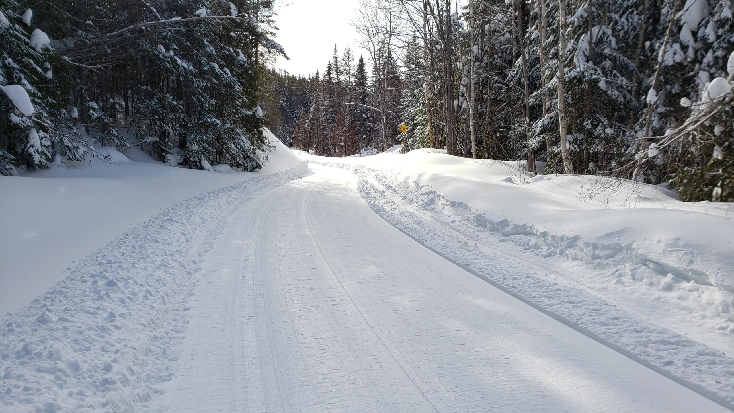
<path fill-rule="evenodd" d="M 541 245 L 556 249 L 573 245 L 579 250 L 575 254 L 583 256 L 598 252 L 598 245 L 552 234 L 539 236 L 529 226 L 509 221 L 493 223 L 484 215 L 472 214 L 470 206 L 447 200 L 430 188 L 407 187 L 381 170 L 316 163 L 357 173 L 357 187 L 366 203 L 419 243 L 615 351 L 734 410 L 734 359 L 730 356 L 574 286 L 537 259 L 513 254 L 511 248 L 501 248 L 486 234 L 499 234 L 500 242 L 517 243 L 523 247 L 520 251 Z M 443 209 L 456 218 L 448 222 Z M 525 269 L 506 270 L 498 262 L 522 263 Z"/>

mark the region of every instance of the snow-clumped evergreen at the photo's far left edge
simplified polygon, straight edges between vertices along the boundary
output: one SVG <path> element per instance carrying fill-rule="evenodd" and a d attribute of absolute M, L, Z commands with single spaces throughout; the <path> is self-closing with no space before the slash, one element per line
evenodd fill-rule
<path fill-rule="evenodd" d="M 57 150 L 68 161 L 80 160 L 84 146 L 62 106 L 48 35 L 32 10 L 21 15 L 12 0 L 1 8 L 0 173 L 11 174 L 16 165 L 46 168 Z"/>

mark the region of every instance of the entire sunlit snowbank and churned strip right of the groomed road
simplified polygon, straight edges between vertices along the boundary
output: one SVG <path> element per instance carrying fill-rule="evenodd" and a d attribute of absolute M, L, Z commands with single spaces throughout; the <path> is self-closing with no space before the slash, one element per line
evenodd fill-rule
<path fill-rule="evenodd" d="M 310 162 L 355 170 L 411 237 L 660 373 L 734 401 L 734 210 L 660 187 L 532 176 L 440 150 Z M 498 271 L 498 256 L 525 273 Z M 731 405 L 730 405 L 731 406 Z"/>

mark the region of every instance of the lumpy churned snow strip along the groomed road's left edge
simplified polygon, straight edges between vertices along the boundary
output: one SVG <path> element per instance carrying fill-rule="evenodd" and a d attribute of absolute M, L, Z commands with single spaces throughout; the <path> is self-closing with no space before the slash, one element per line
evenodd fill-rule
<path fill-rule="evenodd" d="M 305 173 L 256 176 L 162 209 L 0 325 L 2 412 L 123 412 L 172 374 L 201 255 L 243 204 Z"/>

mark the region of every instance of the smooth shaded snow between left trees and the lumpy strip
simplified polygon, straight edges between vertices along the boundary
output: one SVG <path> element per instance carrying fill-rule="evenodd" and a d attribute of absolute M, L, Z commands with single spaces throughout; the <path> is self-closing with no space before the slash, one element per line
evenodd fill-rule
<path fill-rule="evenodd" d="M 269 132 L 268 132 L 269 133 Z M 65 268 L 159 209 L 299 162 L 278 144 L 263 170 L 170 168 L 138 146 L 109 159 L 0 176 L 0 311 L 18 309 L 63 279 Z"/>

